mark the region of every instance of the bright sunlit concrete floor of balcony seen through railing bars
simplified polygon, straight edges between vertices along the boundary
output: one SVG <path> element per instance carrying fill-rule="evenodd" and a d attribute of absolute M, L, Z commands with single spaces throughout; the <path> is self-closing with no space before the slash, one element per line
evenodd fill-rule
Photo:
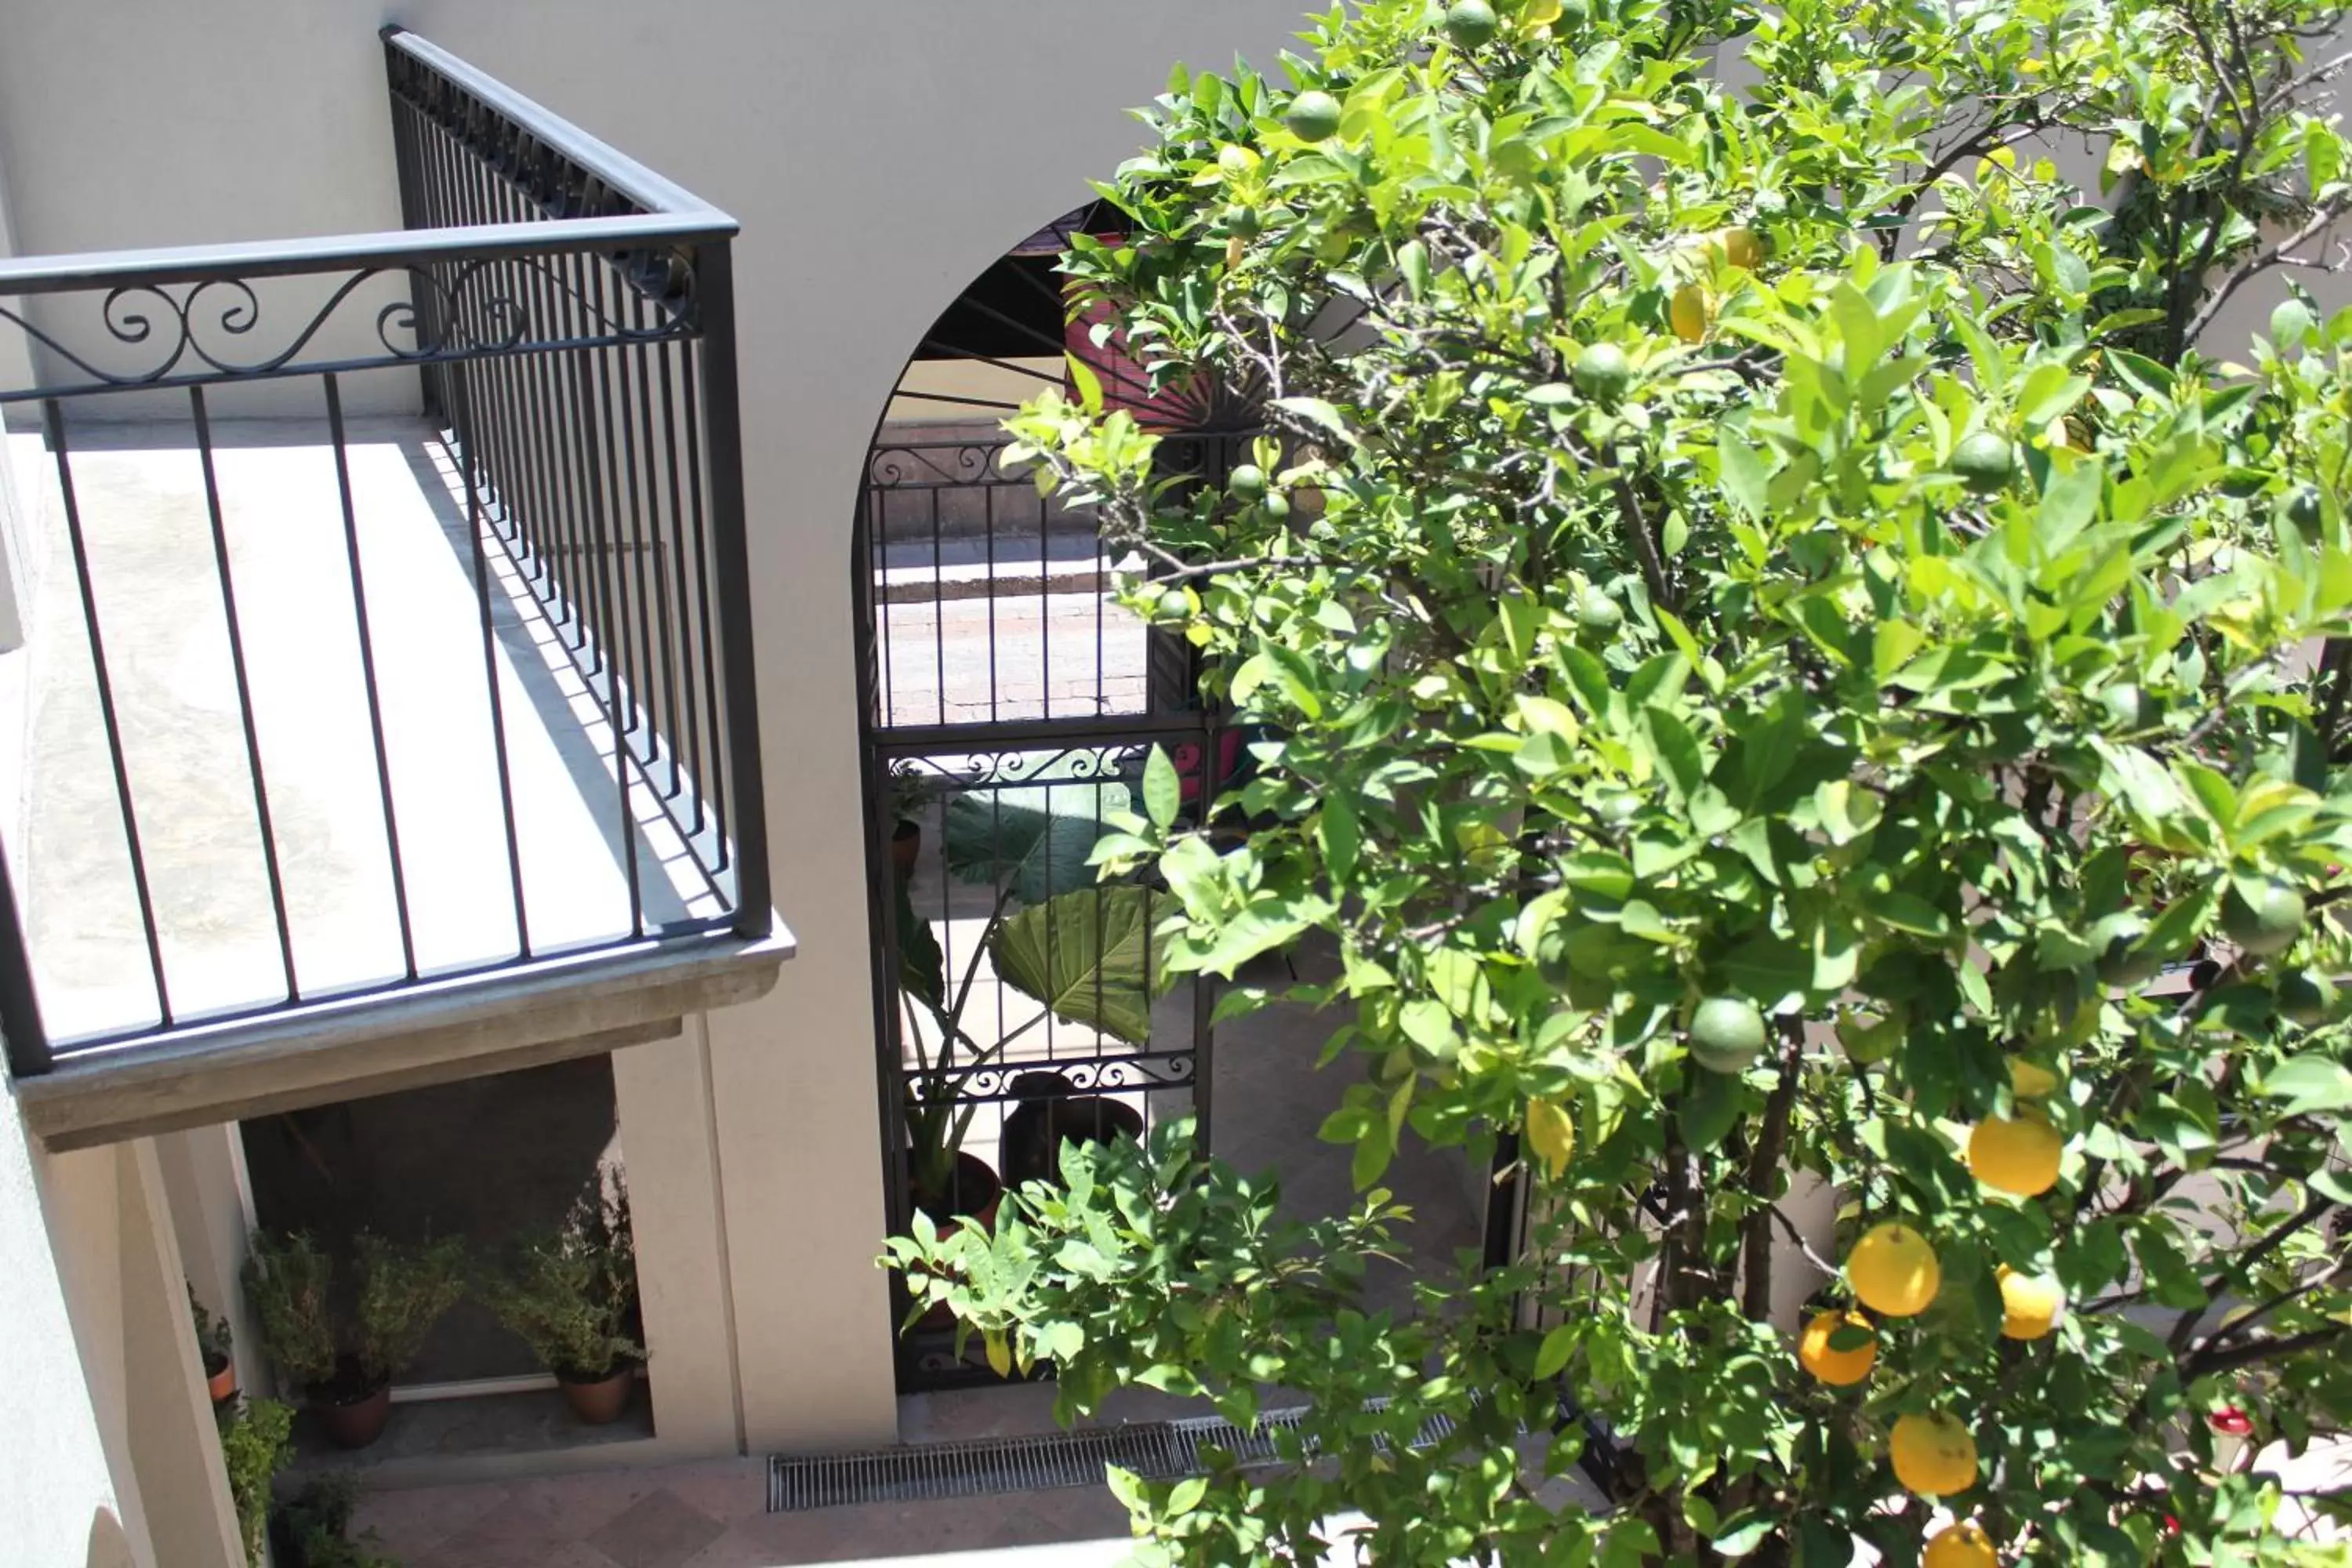
<path fill-rule="evenodd" d="M 282 999 L 287 952 L 299 994 L 320 999 L 397 980 L 412 961 L 433 976 L 510 959 L 524 929 L 534 954 L 628 933 L 612 731 L 557 625 L 496 552 L 485 663 L 473 541 L 449 451 L 421 421 L 353 421 L 346 536 L 322 421 L 221 421 L 212 444 L 252 741 L 191 428 L 71 430 L 120 726 L 118 780 L 56 461 L 38 433 L 7 437 L 26 510 L 21 597 L 33 649 L 21 762 L 31 820 L 9 837 L 21 846 L 14 875 L 52 1039 L 158 1020 L 158 961 L 172 1016 L 193 1020 Z M 353 538 L 372 639 L 365 651 Z M 362 665 L 369 654 L 376 715 Z M 503 792 L 492 693 L 503 719 Z M 666 769 L 654 776 L 670 785 Z M 278 898 L 256 783 L 275 839 Z M 122 790 L 134 804 L 155 954 Z M 713 910 L 640 769 L 628 816 L 652 917 Z"/>

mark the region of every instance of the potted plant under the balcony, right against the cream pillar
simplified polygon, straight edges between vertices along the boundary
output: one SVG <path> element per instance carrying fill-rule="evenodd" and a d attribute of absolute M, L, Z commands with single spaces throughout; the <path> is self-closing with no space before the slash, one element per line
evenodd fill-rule
<path fill-rule="evenodd" d="M 583 1422 L 600 1427 L 628 1408 L 644 1345 L 628 1187 L 619 1175 L 574 1199 L 562 1225 L 522 1237 L 485 1267 L 477 1295 L 555 1373 Z"/>

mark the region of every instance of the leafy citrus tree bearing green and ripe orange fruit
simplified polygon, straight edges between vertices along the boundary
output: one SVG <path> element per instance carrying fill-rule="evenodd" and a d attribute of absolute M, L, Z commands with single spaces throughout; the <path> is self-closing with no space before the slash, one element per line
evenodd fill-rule
<path fill-rule="evenodd" d="M 1014 451 L 1254 736 L 1094 853 L 1223 1018 L 1327 1023 L 1359 1199 L 1167 1124 L 891 1255 L 1068 1418 L 1305 1410 L 1120 1479 L 1155 1552 L 2326 1561 L 2272 1460 L 2352 1413 L 2340 21 L 1367 0 L 1145 110 L 1063 270 L 1265 435 L 1169 482 L 1073 369 Z M 1376 1309 L 1416 1145 L 1524 1248 Z"/>

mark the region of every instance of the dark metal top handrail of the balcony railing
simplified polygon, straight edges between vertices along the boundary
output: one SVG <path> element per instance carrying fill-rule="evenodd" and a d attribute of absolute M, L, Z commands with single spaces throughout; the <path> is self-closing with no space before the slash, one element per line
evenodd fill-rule
<path fill-rule="evenodd" d="M 167 244 L 155 249 L 85 252 L 75 256 L 0 259 L 0 296 L 64 294 L 73 289 L 136 289 L 207 277 L 275 277 L 355 268 L 405 268 L 419 261 L 477 261 L 546 252 L 612 249 L 694 240 L 731 240 L 727 212 L 616 153 L 562 115 L 482 75 L 447 49 L 397 26 L 383 28 L 388 47 L 482 99 L 527 127 L 548 148 L 581 165 L 609 190 L 647 207 L 642 214 L 600 219 L 539 219 L 468 228 L 395 228 L 301 240 L 238 240 L 230 244 Z"/>

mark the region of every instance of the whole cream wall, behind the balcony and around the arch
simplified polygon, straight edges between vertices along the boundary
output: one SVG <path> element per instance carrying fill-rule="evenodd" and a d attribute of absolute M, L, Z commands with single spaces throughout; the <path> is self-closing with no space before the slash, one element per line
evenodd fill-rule
<path fill-rule="evenodd" d="M 0 167 L 24 254 L 397 226 L 374 38 L 388 16 L 743 221 L 769 832 L 802 950 L 764 1004 L 710 1020 L 708 1091 L 656 1084 L 689 1067 L 649 1056 L 623 1067 L 621 1114 L 633 1166 L 668 1166 L 677 1150 L 656 1152 L 630 1121 L 682 1126 L 708 1098 L 724 1211 L 656 1248 L 675 1241 L 701 1269 L 727 1260 L 727 1298 L 673 1302 L 670 1321 L 699 1338 L 731 1316 L 753 1450 L 896 1432 L 873 1267 L 882 1173 L 849 628 L 866 440 L 962 284 L 1138 146 L 1122 110 L 1171 61 L 1272 59 L 1303 9 L 0 0 Z"/>

